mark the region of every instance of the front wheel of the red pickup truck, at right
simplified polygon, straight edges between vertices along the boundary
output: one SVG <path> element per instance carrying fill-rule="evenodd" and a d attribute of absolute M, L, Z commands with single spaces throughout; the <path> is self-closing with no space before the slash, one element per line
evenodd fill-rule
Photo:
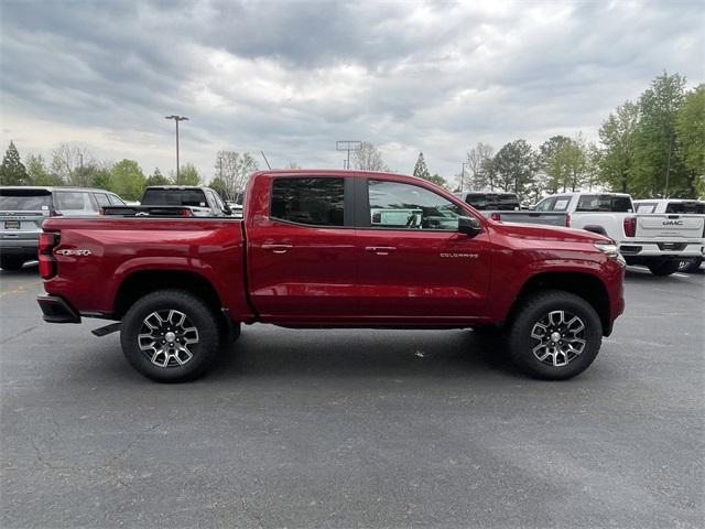
<path fill-rule="evenodd" d="M 565 380 L 595 360 L 603 341 L 599 316 L 587 301 L 546 291 L 523 301 L 509 333 L 509 354 L 527 375 Z"/>

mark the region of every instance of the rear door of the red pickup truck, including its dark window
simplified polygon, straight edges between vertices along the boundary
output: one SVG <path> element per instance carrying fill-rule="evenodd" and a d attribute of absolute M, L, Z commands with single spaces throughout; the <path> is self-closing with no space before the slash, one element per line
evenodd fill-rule
<path fill-rule="evenodd" d="M 258 180 L 248 207 L 248 278 L 262 321 L 345 321 L 357 314 L 350 177 Z M 269 188 L 267 186 L 270 185 Z M 256 203 L 256 205 L 252 205 Z"/>

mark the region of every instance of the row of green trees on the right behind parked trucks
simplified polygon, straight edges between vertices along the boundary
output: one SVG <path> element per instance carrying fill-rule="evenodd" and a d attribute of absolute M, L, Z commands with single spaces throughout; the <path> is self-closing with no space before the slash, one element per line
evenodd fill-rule
<path fill-rule="evenodd" d="M 538 149 L 519 139 L 466 155 L 465 190 L 513 191 L 533 203 L 546 194 L 606 190 L 637 198 L 705 194 L 705 85 L 658 76 L 637 101 L 625 101 L 599 128 L 599 143 L 554 136 Z"/>

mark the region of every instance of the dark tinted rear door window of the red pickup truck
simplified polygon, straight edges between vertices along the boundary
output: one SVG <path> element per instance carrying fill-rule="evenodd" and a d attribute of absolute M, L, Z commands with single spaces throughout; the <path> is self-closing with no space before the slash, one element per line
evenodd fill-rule
<path fill-rule="evenodd" d="M 315 226 L 343 226 L 343 179 L 275 179 L 271 217 Z"/>

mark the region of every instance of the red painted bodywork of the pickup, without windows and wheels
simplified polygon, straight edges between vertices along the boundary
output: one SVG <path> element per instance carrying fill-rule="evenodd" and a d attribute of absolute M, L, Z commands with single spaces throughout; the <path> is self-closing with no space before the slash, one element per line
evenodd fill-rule
<path fill-rule="evenodd" d="M 268 171 L 252 176 L 245 219 L 48 218 L 61 233 L 57 273 L 45 290 L 80 313 L 110 315 L 120 284 L 139 271 L 182 270 L 205 278 L 234 320 L 281 325 L 464 326 L 507 317 L 522 285 L 546 271 L 590 274 L 605 284 L 610 317 L 623 310 L 622 269 L 583 230 L 501 224 L 425 181 L 384 174 L 443 195 L 482 231 L 328 228 L 270 218 L 280 175 L 377 177 L 347 171 Z M 246 295 L 247 289 L 247 295 Z"/>

